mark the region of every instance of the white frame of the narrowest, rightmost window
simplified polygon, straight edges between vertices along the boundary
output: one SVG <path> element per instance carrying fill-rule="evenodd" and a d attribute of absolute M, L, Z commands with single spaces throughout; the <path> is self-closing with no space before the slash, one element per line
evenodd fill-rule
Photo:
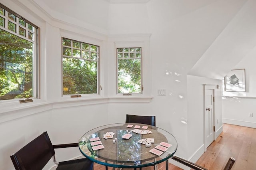
<path fill-rule="evenodd" d="M 128 48 L 129 49 L 129 52 L 128 52 L 128 54 L 130 54 L 130 49 L 131 48 L 140 48 L 140 92 L 138 92 L 138 93 L 130 93 L 130 92 L 128 92 L 128 93 L 119 93 L 118 92 L 118 88 L 119 88 L 119 86 L 118 86 L 118 59 L 120 59 L 120 58 L 118 58 L 118 49 L 120 49 L 120 48 L 122 48 L 122 49 L 124 49 L 124 48 Z M 122 53 L 125 53 L 124 51 L 122 52 Z M 123 58 L 122 57 L 122 59 L 126 59 L 126 58 Z M 136 56 L 134 56 L 133 58 L 131 58 L 131 57 L 128 57 L 127 59 L 137 59 L 137 57 Z M 143 94 L 143 47 L 128 47 L 128 46 L 125 46 L 125 47 L 116 47 L 116 94 L 117 95 L 140 95 L 140 94 Z"/>

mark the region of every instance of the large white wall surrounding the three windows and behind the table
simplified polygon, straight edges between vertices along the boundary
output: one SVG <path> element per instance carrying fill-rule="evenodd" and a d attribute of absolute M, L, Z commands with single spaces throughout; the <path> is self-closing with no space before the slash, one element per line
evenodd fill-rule
<path fill-rule="evenodd" d="M 0 146 L 1 167 L 13 169 L 10 157 L 6 155 L 12 154 L 45 130 L 49 132 L 54 144 L 76 142 L 91 128 L 123 122 L 127 113 L 156 115 L 156 125 L 172 133 L 178 141 L 177 156 L 191 158 L 193 161 L 200 156 L 203 145 L 202 84 L 217 84 L 220 81 L 187 74 L 244 1 L 236 1 L 234 6 L 229 6 L 232 4 L 230 0 L 225 0 L 223 6 L 220 3 L 222 1 L 218 0 L 197 0 L 193 3 L 184 0 L 162 0 L 161 3 L 159 0 L 150 0 L 147 4 L 110 4 L 107 14 L 104 13 L 106 10 L 99 10 L 95 15 L 98 18 L 108 18 L 108 23 L 87 23 L 87 20 L 72 20 L 74 16 L 63 17 L 61 8 L 58 8 L 57 14 L 52 13 L 52 9 L 47 8 L 40 0 L 35 0 L 42 5 L 40 7 L 30 0 L 0 2 L 40 26 L 43 35 L 42 98 L 22 106 L 9 104 L 12 108 L 8 111 L 3 110 L 1 105 L 0 127 L 4 129 L 0 131 L 4 138 Z M 42 10 L 43 7 L 46 12 L 49 11 L 48 14 Z M 63 9 L 68 7 L 69 4 L 66 4 Z M 135 10 L 131 16 L 127 15 L 130 10 Z M 228 14 L 225 13 L 226 10 Z M 53 16 L 49 16 L 50 14 Z M 134 20 L 135 18 L 139 20 Z M 87 96 L 78 100 L 61 96 L 62 36 L 101 46 L 100 83 L 103 90 L 99 96 Z M 147 84 L 144 87 L 145 98 L 124 99 L 115 94 L 116 69 L 113 54 L 115 45 L 125 41 L 143 42 L 144 47 L 148 48 L 144 53 L 144 57 L 147 57 L 144 63 L 144 80 Z M 166 89 L 166 96 L 158 96 L 158 89 Z M 221 119 L 221 103 L 218 106 L 216 119 Z M 80 155 L 77 150 L 65 153 L 67 152 L 60 150 L 57 157 L 65 160 L 70 156 Z M 52 165 L 50 161 L 45 169 Z"/>

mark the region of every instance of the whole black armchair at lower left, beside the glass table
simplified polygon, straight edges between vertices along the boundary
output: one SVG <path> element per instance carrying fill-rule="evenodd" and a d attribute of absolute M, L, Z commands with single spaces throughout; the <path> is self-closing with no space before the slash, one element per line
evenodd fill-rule
<path fill-rule="evenodd" d="M 86 158 L 57 162 L 54 149 L 69 147 L 78 147 L 78 143 L 52 145 L 44 132 L 10 157 L 16 170 L 42 170 L 51 158 L 58 164 L 56 170 L 93 170 L 93 162 Z"/>

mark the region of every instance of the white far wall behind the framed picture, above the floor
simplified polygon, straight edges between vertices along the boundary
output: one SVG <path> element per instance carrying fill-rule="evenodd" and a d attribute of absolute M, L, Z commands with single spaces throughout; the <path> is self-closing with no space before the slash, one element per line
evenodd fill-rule
<path fill-rule="evenodd" d="M 256 48 L 232 69 L 245 69 L 246 92 L 224 92 L 223 123 L 256 128 Z M 253 113 L 253 117 L 249 117 Z"/>

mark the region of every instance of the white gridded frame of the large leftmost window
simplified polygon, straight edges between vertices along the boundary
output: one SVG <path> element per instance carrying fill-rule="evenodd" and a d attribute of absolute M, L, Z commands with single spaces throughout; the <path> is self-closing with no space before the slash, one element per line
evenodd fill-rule
<path fill-rule="evenodd" d="M 1 18 L 4 19 L 4 26 L 0 26 L 0 28 L 10 34 L 13 34 L 19 38 L 22 38 L 28 42 L 33 43 L 33 61 L 32 61 L 32 65 L 33 65 L 33 85 L 32 85 L 32 91 L 33 91 L 33 97 L 31 97 L 32 99 L 40 99 L 40 59 L 39 59 L 39 52 L 40 52 L 40 48 L 39 48 L 39 41 L 40 41 L 40 28 L 38 26 L 36 26 L 35 24 L 33 24 L 32 22 L 26 20 L 25 18 L 23 18 L 22 16 L 20 16 L 19 14 L 17 14 L 16 12 L 14 12 L 13 10 L 10 10 L 10 8 L 7 8 L 6 6 L 4 6 L 3 4 L 0 3 L 0 8 L 4 9 L 4 15 L 0 14 Z M 10 19 L 8 16 L 9 14 L 12 14 L 13 16 L 15 16 L 16 20 L 12 20 Z M 19 20 L 22 20 L 25 24 L 25 26 L 23 26 L 22 24 L 20 24 Z M 11 22 L 12 24 L 16 25 L 16 30 L 15 32 L 13 32 L 12 30 L 8 29 L 8 23 Z M 30 30 L 28 28 L 28 25 L 33 27 L 33 30 Z M 19 34 L 19 30 L 20 28 L 26 30 L 26 34 L 25 36 L 22 36 Z M 33 34 L 33 40 L 31 40 L 30 38 L 28 38 L 28 33 L 32 33 Z M 14 99 L 6 99 L 6 100 L 0 100 L 0 102 L 4 103 L 5 101 L 18 101 L 20 99 L 23 98 L 14 98 Z"/>

